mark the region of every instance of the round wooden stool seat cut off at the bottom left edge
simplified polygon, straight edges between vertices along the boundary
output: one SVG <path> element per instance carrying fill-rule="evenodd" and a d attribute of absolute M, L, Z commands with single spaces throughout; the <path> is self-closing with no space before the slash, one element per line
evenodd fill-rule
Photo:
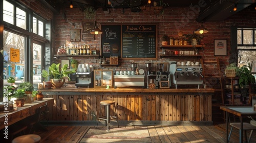
<path fill-rule="evenodd" d="M 41 140 L 41 137 L 37 134 L 27 134 L 15 137 L 12 143 L 36 143 Z"/>

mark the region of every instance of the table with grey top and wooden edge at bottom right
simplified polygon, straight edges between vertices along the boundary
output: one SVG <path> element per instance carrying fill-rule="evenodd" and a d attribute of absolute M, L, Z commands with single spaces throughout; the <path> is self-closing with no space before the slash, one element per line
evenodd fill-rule
<path fill-rule="evenodd" d="M 253 107 L 245 107 L 245 106 L 221 106 L 221 110 L 229 112 L 231 114 L 237 115 L 240 118 L 241 129 L 239 131 L 239 142 L 243 142 L 243 118 L 247 116 L 256 115 L 256 111 L 253 110 Z M 226 113 L 226 118 L 228 115 Z M 227 120 L 227 142 L 228 142 L 228 120 Z"/>

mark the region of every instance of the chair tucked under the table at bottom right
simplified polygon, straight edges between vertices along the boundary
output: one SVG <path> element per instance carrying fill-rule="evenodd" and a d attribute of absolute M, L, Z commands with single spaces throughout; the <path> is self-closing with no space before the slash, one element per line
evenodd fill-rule
<path fill-rule="evenodd" d="M 251 105 L 248 105 L 248 104 L 242 104 L 242 105 L 227 104 L 226 106 L 251 106 Z M 236 122 L 236 115 L 233 115 L 233 114 L 232 114 L 233 115 L 233 122 L 231 123 L 231 121 L 230 121 L 230 114 L 229 113 L 227 113 L 227 114 L 228 114 L 228 119 L 227 120 L 229 120 L 229 125 L 231 126 L 231 129 L 230 129 L 230 132 L 229 132 L 229 135 L 228 135 L 228 141 L 229 141 L 233 128 L 237 128 L 238 130 L 240 130 L 241 129 L 240 128 L 241 123 L 240 122 Z M 248 141 L 247 141 L 247 134 L 246 134 L 247 130 L 251 131 L 250 135 L 249 135 L 249 138 L 248 138 Z M 250 123 L 243 123 L 243 131 L 245 133 L 246 142 L 250 142 L 253 130 L 256 130 L 256 126 L 253 126 Z"/>

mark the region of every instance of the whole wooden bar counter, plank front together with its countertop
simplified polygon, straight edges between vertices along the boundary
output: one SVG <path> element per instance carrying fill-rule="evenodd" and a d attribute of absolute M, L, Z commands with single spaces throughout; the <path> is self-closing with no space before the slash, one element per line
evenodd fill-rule
<path fill-rule="evenodd" d="M 116 102 L 119 121 L 211 121 L 214 89 L 42 89 L 54 98 L 51 121 L 92 121 L 100 101 Z M 102 110 L 103 113 L 103 110 Z M 111 114 L 114 115 L 111 106 Z"/>

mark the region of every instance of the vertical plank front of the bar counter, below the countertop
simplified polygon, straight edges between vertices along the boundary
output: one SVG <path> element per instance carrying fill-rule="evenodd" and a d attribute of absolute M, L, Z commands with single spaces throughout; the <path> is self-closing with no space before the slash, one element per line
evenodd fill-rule
<path fill-rule="evenodd" d="M 103 115 L 100 101 L 114 100 L 120 121 L 211 121 L 211 94 L 99 93 L 87 95 L 53 95 L 49 108 L 52 121 L 91 121 L 96 112 Z M 115 115 L 111 106 L 111 115 Z M 94 118 L 93 118 L 94 117 Z"/>

